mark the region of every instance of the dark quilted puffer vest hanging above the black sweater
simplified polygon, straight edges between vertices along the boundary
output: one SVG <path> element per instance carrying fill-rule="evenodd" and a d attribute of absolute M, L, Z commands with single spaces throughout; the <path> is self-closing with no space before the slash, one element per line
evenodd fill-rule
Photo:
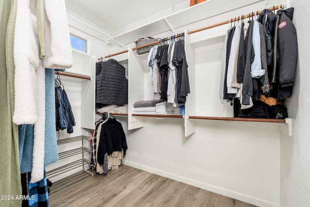
<path fill-rule="evenodd" d="M 96 105 L 123 106 L 127 103 L 128 80 L 125 77 L 124 66 L 114 59 L 97 63 Z"/>

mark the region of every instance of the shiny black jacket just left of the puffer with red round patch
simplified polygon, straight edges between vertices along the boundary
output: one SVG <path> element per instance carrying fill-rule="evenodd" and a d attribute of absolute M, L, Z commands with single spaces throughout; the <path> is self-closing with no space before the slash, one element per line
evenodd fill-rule
<path fill-rule="evenodd" d="M 276 15 L 269 9 L 264 9 L 259 18 L 259 22 L 264 27 L 266 50 L 267 50 L 267 65 L 272 65 L 273 58 L 273 37 L 275 33 Z"/>

